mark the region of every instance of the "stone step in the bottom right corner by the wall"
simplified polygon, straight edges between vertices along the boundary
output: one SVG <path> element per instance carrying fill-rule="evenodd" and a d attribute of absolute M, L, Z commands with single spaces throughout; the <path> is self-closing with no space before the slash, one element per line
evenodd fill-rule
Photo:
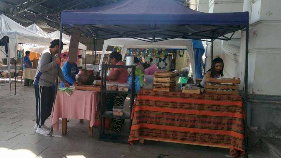
<path fill-rule="evenodd" d="M 260 145 L 264 151 L 270 154 L 270 157 L 281 158 L 281 139 L 261 138 Z"/>

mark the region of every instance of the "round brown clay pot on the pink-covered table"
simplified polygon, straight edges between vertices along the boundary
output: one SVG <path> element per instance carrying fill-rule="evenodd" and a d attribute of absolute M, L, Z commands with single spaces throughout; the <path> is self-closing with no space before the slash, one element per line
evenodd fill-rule
<path fill-rule="evenodd" d="M 92 85 L 95 80 L 93 70 L 79 69 L 79 73 L 75 76 L 76 82 L 83 85 Z"/>

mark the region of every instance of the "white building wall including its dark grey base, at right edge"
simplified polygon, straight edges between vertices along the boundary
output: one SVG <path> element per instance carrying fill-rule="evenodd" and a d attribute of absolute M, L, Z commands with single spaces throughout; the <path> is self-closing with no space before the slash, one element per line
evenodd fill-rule
<path fill-rule="evenodd" d="M 244 0 L 250 12 L 249 29 L 249 102 L 247 124 L 250 142 L 259 137 L 281 137 L 281 1 Z M 240 89 L 245 68 L 245 32 L 241 33 L 239 56 Z"/>

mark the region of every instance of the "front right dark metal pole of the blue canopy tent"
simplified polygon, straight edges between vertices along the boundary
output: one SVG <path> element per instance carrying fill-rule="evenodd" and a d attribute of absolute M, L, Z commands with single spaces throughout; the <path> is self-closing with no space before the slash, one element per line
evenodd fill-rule
<path fill-rule="evenodd" d="M 246 56 L 245 56 L 245 104 L 244 104 L 244 112 L 245 112 L 245 120 L 244 120 L 244 132 L 245 132 L 245 152 L 247 153 L 248 148 L 248 128 L 247 128 L 247 111 L 248 111 L 248 57 L 249 57 L 249 25 L 246 26 Z"/>

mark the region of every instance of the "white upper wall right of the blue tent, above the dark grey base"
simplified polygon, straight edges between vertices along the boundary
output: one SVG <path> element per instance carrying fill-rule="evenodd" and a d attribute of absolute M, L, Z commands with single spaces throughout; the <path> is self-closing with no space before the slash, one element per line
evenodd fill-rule
<path fill-rule="evenodd" d="M 280 6 L 280 0 L 251 1 L 248 66 L 249 93 L 281 95 Z M 243 46 L 244 48 L 241 49 L 245 49 L 243 42 L 241 41 L 241 47 Z M 244 58 L 244 54 L 243 57 L 240 57 L 240 59 L 242 58 Z M 239 62 L 243 63 L 244 60 L 239 60 Z M 242 69 L 239 69 L 239 73 L 243 73 Z"/>

